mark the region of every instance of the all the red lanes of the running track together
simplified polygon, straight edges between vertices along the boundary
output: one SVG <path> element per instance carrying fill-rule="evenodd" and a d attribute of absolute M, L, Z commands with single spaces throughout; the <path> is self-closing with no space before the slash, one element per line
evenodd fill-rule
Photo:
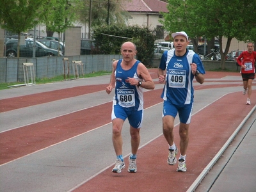
<path fill-rule="evenodd" d="M 150 69 L 154 79 L 157 78 L 156 72 L 156 69 Z M 205 81 L 212 78 L 220 79 L 227 75 L 241 76 L 239 73 L 207 72 Z M 228 86 L 241 86 L 242 90 L 242 81 L 237 81 L 235 84 L 217 84 L 220 82 L 222 81 L 216 81 L 214 85 L 198 85 L 195 86 L 195 90 Z M 155 83 L 157 84 L 157 82 Z M 105 90 L 106 86 L 106 84 L 79 86 L 3 99 L 0 100 L 0 112 L 98 92 Z M 152 90 L 144 93 L 145 108 L 162 102 L 159 97 L 161 91 Z M 253 90 L 253 95 L 255 93 L 256 90 Z M 120 174 L 111 173 L 111 168 L 108 168 L 75 191 L 172 191 L 173 189 L 175 191 L 186 191 L 255 105 L 255 100 L 253 100 L 251 106 L 246 106 L 244 100 L 239 102 L 240 98 L 241 92 L 230 93 L 214 102 L 214 105 L 212 105 L 214 107 L 207 106 L 207 108 L 193 115 L 189 133 L 188 172 L 177 173 L 177 165 L 169 166 L 166 163 L 168 148 L 164 137 L 160 136 L 139 150 L 137 173 L 128 173 L 127 167 Z M 29 100 L 29 102 L 26 102 L 26 100 Z M 108 124 L 110 122 L 111 104 L 111 102 L 108 102 L 83 111 L 2 132 L 0 134 L 0 164 L 8 163 L 100 125 Z M 95 115 L 96 111 L 97 115 Z M 99 115 L 102 117 L 100 122 L 97 121 Z M 179 146 L 177 128 L 175 129 L 175 143 Z M 128 166 L 127 158 L 125 163 Z"/>

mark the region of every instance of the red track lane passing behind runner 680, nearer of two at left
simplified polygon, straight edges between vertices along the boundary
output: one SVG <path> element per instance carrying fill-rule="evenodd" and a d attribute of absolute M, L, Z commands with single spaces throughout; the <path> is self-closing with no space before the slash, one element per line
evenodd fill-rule
<path fill-rule="evenodd" d="M 145 108 L 162 102 L 161 90 L 145 92 Z M 156 95 L 156 97 L 152 97 Z M 0 133 L 0 164 L 111 122 L 112 102 Z"/>

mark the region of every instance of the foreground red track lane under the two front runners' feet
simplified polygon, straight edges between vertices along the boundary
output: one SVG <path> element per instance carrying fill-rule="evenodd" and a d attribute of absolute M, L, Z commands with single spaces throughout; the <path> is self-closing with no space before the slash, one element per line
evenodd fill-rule
<path fill-rule="evenodd" d="M 170 166 L 166 163 L 168 146 L 164 136 L 160 136 L 138 151 L 138 172 L 129 173 L 125 168 L 120 174 L 111 173 L 110 167 L 70 191 L 186 191 L 256 104 L 237 104 L 239 97 L 241 92 L 229 93 L 193 115 L 189 131 L 188 172 L 177 173 L 177 164 Z M 179 146 L 177 128 L 175 143 Z M 125 164 L 129 164 L 127 157 Z"/>

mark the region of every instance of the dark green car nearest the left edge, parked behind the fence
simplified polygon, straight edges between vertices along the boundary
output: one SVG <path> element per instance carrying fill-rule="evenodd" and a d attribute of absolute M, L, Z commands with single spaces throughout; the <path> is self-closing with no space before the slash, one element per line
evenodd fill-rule
<path fill-rule="evenodd" d="M 33 45 L 34 41 L 31 39 L 26 39 L 25 41 L 20 40 L 20 57 L 31 58 L 33 57 Z M 8 40 L 5 45 L 6 56 L 8 57 L 17 57 L 17 46 L 18 40 L 12 39 Z M 60 51 L 60 56 L 62 56 L 62 52 Z M 44 44 L 36 41 L 35 47 L 35 56 L 58 56 L 58 50 L 50 49 L 46 47 Z"/>

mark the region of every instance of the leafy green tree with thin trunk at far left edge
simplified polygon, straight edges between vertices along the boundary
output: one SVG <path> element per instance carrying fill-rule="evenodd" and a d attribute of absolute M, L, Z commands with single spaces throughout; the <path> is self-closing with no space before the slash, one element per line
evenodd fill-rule
<path fill-rule="evenodd" d="M 19 57 L 20 33 L 34 28 L 44 13 L 45 0 L 1 0 L 1 28 L 18 34 Z"/>

